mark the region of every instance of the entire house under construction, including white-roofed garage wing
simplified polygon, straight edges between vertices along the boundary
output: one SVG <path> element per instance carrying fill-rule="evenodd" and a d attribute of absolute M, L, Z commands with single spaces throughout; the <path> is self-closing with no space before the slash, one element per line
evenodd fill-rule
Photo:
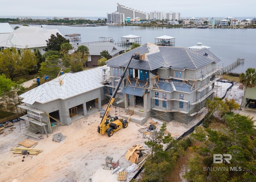
<path fill-rule="evenodd" d="M 147 43 L 109 59 L 106 66 L 62 74 L 21 94 L 19 107 L 27 111 L 22 118 L 32 130 L 52 133 L 55 123 L 70 125 L 102 110 L 134 54 L 141 59 L 130 62 L 113 104 L 115 112 L 125 108 L 125 113 L 119 112 L 124 119 L 139 124 L 149 117 L 189 123 L 213 96 L 218 57 L 206 48 L 192 51 Z"/>

